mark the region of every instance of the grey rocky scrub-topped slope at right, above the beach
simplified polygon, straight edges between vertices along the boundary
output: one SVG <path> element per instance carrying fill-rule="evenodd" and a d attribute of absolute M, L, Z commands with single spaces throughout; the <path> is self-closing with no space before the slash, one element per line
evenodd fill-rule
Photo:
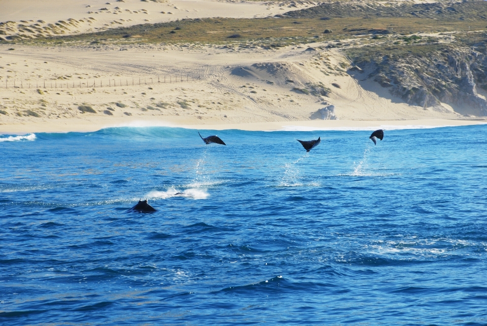
<path fill-rule="evenodd" d="M 483 49 L 438 45 L 415 52 L 401 47 L 387 53 L 378 50 L 353 64 L 410 105 L 443 111 L 443 102 L 461 114 L 487 116 L 487 101 L 477 93 L 477 87 L 487 89 Z M 357 69 L 351 74 L 356 75 Z"/>

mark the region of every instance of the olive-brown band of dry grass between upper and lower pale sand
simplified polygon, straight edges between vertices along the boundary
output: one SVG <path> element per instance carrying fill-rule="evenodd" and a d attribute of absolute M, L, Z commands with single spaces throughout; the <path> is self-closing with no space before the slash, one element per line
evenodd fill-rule
<path fill-rule="evenodd" d="M 296 23 L 298 22 L 298 24 Z M 394 34 L 410 35 L 414 32 L 468 31 L 484 29 L 486 22 L 464 20 L 440 20 L 405 17 L 343 17 L 322 20 L 320 18 L 206 18 L 183 19 L 177 22 L 142 24 L 113 28 L 106 31 L 58 36 L 46 39 L 19 40 L 22 43 L 73 44 L 138 44 L 138 43 L 194 43 L 234 44 L 240 48 L 264 46 L 279 48 L 287 45 L 317 40 L 340 40 L 357 35 L 373 34 L 374 30 L 389 30 Z M 181 29 L 171 34 L 179 26 Z M 325 29 L 333 33 L 325 34 Z M 137 35 L 137 38 L 126 37 Z M 239 35 L 238 38 L 229 38 Z"/>

